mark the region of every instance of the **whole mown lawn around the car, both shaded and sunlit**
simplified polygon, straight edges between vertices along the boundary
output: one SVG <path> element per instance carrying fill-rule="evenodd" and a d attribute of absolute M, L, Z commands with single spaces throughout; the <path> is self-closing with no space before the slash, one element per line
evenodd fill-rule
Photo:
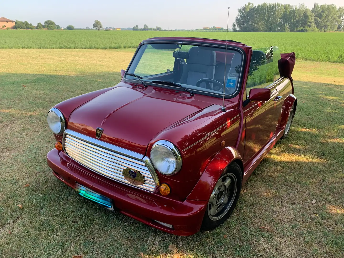
<path fill-rule="evenodd" d="M 6 63 L 0 72 L 0 257 L 122 258 L 142 252 L 165 258 L 173 256 L 170 244 L 189 258 L 343 257 L 343 64 L 297 62 L 298 107 L 289 137 L 252 173 L 230 219 L 211 232 L 161 232 L 111 213 L 56 179 L 46 164 L 55 143 L 47 111 L 115 85 L 132 54 L 0 50 L 0 63 Z"/>

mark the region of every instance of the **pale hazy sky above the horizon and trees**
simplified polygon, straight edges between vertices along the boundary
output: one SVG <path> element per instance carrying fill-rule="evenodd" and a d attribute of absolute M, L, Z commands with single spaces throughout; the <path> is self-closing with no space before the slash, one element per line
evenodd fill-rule
<path fill-rule="evenodd" d="M 314 0 L 264 1 L 251 0 L 254 4 L 262 2 L 280 2 L 299 5 L 304 3 L 310 9 Z M 318 0 L 319 4 L 333 3 L 337 7 L 344 6 L 343 0 Z M 237 15 L 237 10 L 247 2 L 224 0 L 127 0 L 127 1 L 3 1 L 0 6 L 0 17 L 11 20 L 28 21 L 33 25 L 45 20 L 53 20 L 61 27 L 73 25 L 75 28 L 92 28 L 95 20 L 103 27 L 127 28 L 144 24 L 149 27 L 159 26 L 162 29 L 199 29 L 204 26 L 227 27 L 229 9 L 229 28 Z"/>

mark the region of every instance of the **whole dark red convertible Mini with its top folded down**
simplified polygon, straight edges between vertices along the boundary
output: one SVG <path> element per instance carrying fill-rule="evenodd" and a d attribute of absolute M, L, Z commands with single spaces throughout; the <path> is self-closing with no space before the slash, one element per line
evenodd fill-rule
<path fill-rule="evenodd" d="M 54 175 L 80 195 L 176 235 L 210 230 L 290 131 L 295 54 L 236 41 L 155 37 L 121 82 L 47 115 Z"/>

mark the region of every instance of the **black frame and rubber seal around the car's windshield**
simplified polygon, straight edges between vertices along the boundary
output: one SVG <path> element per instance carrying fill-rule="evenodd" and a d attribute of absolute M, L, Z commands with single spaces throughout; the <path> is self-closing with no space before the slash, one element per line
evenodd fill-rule
<path fill-rule="evenodd" d="M 165 43 L 165 44 L 183 44 L 183 45 L 193 45 L 193 46 L 208 46 L 208 47 L 216 47 L 216 48 L 220 48 L 225 50 L 226 49 L 226 45 L 224 44 L 216 44 L 216 43 L 204 43 L 204 42 L 198 42 L 198 41 L 192 41 L 192 40 L 184 40 L 183 41 L 176 41 L 176 40 L 168 40 L 168 39 L 159 39 L 157 38 L 156 40 L 147 40 L 147 41 L 143 41 L 141 42 L 141 44 L 138 46 L 137 50 L 135 51 L 135 54 L 133 55 L 127 70 L 123 76 L 123 81 L 124 82 L 128 82 L 128 83 L 137 83 L 137 79 L 131 79 L 131 78 L 126 78 L 126 75 L 129 71 L 129 68 L 131 67 L 132 63 L 134 62 L 137 54 L 139 53 L 139 50 L 141 47 L 143 47 L 144 45 L 147 44 L 156 44 L 156 43 Z M 146 46 L 147 47 L 147 46 Z M 239 70 L 239 75 L 238 75 L 238 87 L 236 88 L 236 91 L 233 92 L 232 94 L 228 95 L 225 94 L 225 99 L 230 99 L 230 98 L 234 98 L 235 96 L 237 96 L 240 93 L 240 90 L 242 88 L 243 85 L 243 80 L 244 80 L 244 69 L 245 69 L 245 65 L 246 65 L 246 53 L 243 49 L 241 49 L 238 46 L 233 46 L 233 45 L 227 45 L 227 50 L 234 50 L 237 51 L 238 53 L 240 53 L 241 55 L 241 66 L 240 66 L 240 70 Z M 142 57 L 142 56 L 141 56 Z M 140 60 L 141 57 L 138 59 Z M 146 82 L 148 85 L 152 85 L 154 87 L 161 87 L 161 88 L 168 88 L 168 89 L 179 89 L 179 87 L 176 86 L 170 86 L 170 85 L 162 85 L 162 84 L 156 84 L 156 83 L 151 83 L 151 82 Z M 201 94 L 201 95 L 206 95 L 206 96 L 212 96 L 212 97 L 217 97 L 217 98 L 223 98 L 223 93 L 219 92 L 217 93 L 212 93 L 212 92 L 208 92 L 208 91 L 202 91 L 202 90 L 196 90 L 194 88 L 191 89 L 195 94 Z"/>

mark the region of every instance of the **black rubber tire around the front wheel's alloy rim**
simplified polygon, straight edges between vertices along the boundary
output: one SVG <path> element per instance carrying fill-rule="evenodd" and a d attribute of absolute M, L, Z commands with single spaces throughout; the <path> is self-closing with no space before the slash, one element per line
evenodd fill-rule
<path fill-rule="evenodd" d="M 220 180 L 226 179 L 226 177 L 228 176 L 228 178 L 230 178 L 233 183 L 236 181 L 236 188 L 233 189 L 233 193 L 235 192 L 235 195 L 232 196 L 233 198 L 231 198 L 230 201 L 229 201 L 229 197 L 228 197 L 227 203 L 231 202 L 231 203 L 228 204 L 228 205 L 230 205 L 230 207 L 224 206 L 219 212 L 217 212 L 217 214 L 220 214 L 221 212 L 223 212 L 223 214 L 219 215 L 218 216 L 219 218 L 216 218 L 216 220 L 214 220 L 215 217 L 212 216 L 210 214 L 210 211 L 209 211 L 209 209 L 211 210 L 211 207 L 212 207 L 211 202 L 214 202 L 214 201 L 211 201 L 211 200 L 213 200 L 212 196 L 216 196 L 216 194 L 214 194 L 214 191 L 216 190 L 215 187 L 214 187 L 214 190 L 213 190 L 212 195 L 210 197 L 211 200 L 209 200 L 209 203 L 207 204 L 206 211 L 204 213 L 201 230 L 205 230 L 205 231 L 206 230 L 212 230 L 212 229 L 218 227 L 219 225 L 221 225 L 232 214 L 232 212 L 233 212 L 233 210 L 234 210 L 234 208 L 235 208 L 235 206 L 236 206 L 236 204 L 238 202 L 239 196 L 240 196 L 241 182 L 243 180 L 242 179 L 242 175 L 243 174 L 241 172 L 240 166 L 236 162 L 233 162 L 233 163 L 231 163 L 231 164 L 229 164 L 227 166 L 226 170 L 222 173 L 222 175 L 218 179 L 215 187 L 216 187 L 216 189 L 218 189 L 217 184 L 220 183 Z M 226 195 L 227 195 L 228 191 L 230 191 L 230 189 L 231 188 L 226 188 Z M 218 192 L 219 192 L 219 190 L 218 190 Z M 218 196 L 218 194 L 217 194 L 217 196 Z M 223 197 L 224 197 L 224 195 L 222 195 L 221 198 L 223 198 Z M 214 200 L 217 200 L 217 197 L 214 197 Z"/>

